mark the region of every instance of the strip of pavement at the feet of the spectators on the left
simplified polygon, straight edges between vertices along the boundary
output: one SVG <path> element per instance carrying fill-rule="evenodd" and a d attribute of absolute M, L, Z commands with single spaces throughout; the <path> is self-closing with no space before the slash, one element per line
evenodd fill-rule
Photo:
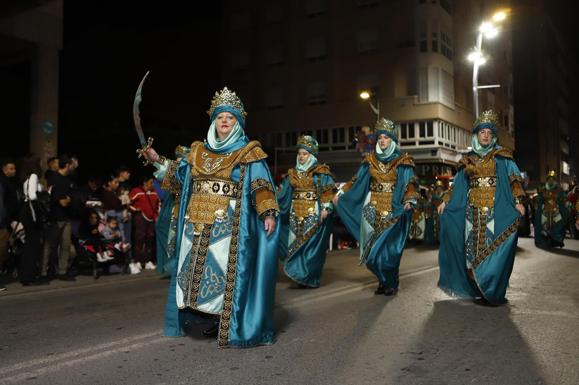
<path fill-rule="evenodd" d="M 7 275 L 9 274 L 10 272 Z M 2 276 L 0 279 L 2 279 L 2 284 L 6 285 L 6 290 L 0 291 L 0 300 L 6 297 L 13 297 L 14 295 L 27 295 L 39 292 L 46 293 L 49 291 L 70 289 L 75 287 L 120 283 L 128 280 L 136 281 L 143 279 L 166 279 L 168 284 L 170 279 L 170 277 L 166 275 L 162 275 L 157 273 L 155 270 L 148 269 L 142 269 L 140 274 L 121 275 L 120 273 L 116 273 L 111 275 L 101 275 L 98 277 L 98 279 L 94 279 L 92 275 L 77 275 L 75 278 L 76 282 L 65 282 L 54 279 L 50 281 L 49 285 L 22 286 L 19 281 L 13 280 L 12 276 L 9 276 L 9 282 L 3 282 L 6 280 L 6 276 Z"/>

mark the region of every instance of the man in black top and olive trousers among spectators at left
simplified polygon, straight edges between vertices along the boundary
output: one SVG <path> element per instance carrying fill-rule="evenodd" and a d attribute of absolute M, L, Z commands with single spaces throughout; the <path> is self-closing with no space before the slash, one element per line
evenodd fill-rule
<path fill-rule="evenodd" d="M 71 258 L 72 231 L 72 212 L 70 208 L 72 200 L 69 197 L 69 193 L 74 187 L 68 175 L 74 171 L 74 163 L 67 155 L 61 155 L 58 158 L 58 165 L 60 167 L 58 172 L 50 176 L 48 180 L 48 185 L 52 186 L 52 194 L 50 195 L 52 223 L 46 229 L 44 237 L 41 279 L 47 280 L 50 254 L 52 254 L 55 247 L 60 246 L 60 250 L 58 250 L 58 279 L 74 282 L 76 279 L 67 274 Z"/>

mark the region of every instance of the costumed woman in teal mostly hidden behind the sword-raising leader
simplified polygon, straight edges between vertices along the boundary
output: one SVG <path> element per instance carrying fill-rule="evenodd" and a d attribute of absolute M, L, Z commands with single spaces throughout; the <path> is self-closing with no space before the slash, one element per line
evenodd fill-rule
<path fill-rule="evenodd" d="M 189 154 L 189 147 L 178 145 L 175 149 L 175 162 L 181 161 Z M 175 265 L 175 240 L 177 234 L 177 214 L 181 197 L 167 193 L 159 217 L 155 223 L 157 237 L 157 273 L 171 276 Z"/>

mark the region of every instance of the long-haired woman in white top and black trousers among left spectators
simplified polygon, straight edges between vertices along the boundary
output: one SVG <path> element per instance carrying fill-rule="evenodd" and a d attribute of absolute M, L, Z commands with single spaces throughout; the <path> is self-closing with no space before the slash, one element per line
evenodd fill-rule
<path fill-rule="evenodd" d="M 20 211 L 20 221 L 24 226 L 25 238 L 19 276 L 23 286 L 50 284 L 49 280 L 36 280 L 36 268 L 39 258 L 42 258 L 42 231 L 48 219 L 46 208 L 50 207 L 42 204 L 50 201 L 50 193 L 44 191 L 38 180 L 39 175 L 42 175 L 40 158 L 36 154 L 28 154 L 24 157 L 21 174 L 25 204 Z"/>

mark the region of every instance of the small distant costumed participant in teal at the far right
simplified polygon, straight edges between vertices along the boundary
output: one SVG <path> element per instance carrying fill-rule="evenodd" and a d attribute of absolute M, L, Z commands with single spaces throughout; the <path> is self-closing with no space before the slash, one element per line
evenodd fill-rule
<path fill-rule="evenodd" d="M 545 186 L 537 187 L 535 246 L 565 246 L 563 240 L 567 234 L 570 206 L 565 190 L 557 184 L 557 173 L 549 171 Z"/>

